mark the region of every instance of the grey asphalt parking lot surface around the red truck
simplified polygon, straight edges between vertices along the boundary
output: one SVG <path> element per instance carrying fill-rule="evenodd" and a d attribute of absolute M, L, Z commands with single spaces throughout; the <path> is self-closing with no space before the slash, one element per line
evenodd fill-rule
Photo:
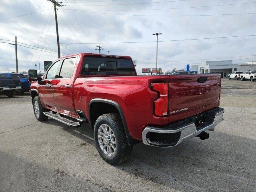
<path fill-rule="evenodd" d="M 256 191 L 256 82 L 222 79 L 224 121 L 208 140 L 134 146 L 111 166 L 85 125 L 34 117 L 29 93 L 0 96 L 0 191 Z"/>

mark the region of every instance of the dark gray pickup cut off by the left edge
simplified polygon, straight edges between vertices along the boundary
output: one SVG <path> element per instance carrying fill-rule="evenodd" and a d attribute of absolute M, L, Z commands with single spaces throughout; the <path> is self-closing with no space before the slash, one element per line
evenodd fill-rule
<path fill-rule="evenodd" d="M 0 94 L 12 97 L 16 91 L 20 91 L 21 89 L 20 78 L 11 78 L 7 77 L 6 74 L 0 74 Z"/>

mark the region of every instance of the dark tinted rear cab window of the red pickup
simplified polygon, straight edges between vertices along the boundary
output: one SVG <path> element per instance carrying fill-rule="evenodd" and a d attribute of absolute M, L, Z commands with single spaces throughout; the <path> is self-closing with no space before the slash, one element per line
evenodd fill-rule
<path fill-rule="evenodd" d="M 81 75 L 135 75 L 132 60 L 85 57 Z"/>

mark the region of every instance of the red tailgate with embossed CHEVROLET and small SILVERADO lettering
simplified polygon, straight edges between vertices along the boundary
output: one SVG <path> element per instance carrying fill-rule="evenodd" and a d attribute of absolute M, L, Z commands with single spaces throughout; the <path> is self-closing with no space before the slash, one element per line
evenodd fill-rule
<path fill-rule="evenodd" d="M 198 114 L 220 99 L 220 74 L 171 75 L 169 116 Z M 202 110 L 200 110 L 202 109 Z M 184 116 L 186 118 L 186 116 Z"/>

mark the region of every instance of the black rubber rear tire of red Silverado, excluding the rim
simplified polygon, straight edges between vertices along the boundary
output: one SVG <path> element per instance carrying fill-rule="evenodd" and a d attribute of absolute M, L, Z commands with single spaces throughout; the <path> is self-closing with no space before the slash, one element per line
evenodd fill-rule
<path fill-rule="evenodd" d="M 108 125 L 115 136 L 116 150 L 112 156 L 106 155 L 98 142 L 98 130 L 102 124 Z M 108 113 L 98 117 L 94 125 L 94 140 L 100 156 L 111 165 L 126 161 L 132 154 L 133 146 L 128 145 L 122 119 L 119 114 Z"/>

